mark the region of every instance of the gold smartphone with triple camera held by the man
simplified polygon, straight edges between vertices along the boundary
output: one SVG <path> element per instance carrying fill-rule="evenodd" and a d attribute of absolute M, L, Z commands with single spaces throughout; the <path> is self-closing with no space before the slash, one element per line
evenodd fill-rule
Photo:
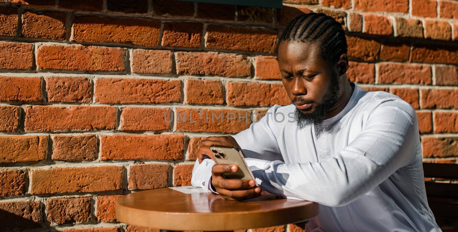
<path fill-rule="evenodd" d="M 244 155 L 239 148 L 232 147 L 219 147 L 211 146 L 210 150 L 213 153 L 213 157 L 216 159 L 216 163 L 224 164 L 235 164 L 239 167 L 236 172 L 224 173 L 225 179 L 252 179 L 255 180 L 253 173 L 251 173 L 248 165 L 245 163 Z M 255 181 L 255 185 L 259 185 Z"/>

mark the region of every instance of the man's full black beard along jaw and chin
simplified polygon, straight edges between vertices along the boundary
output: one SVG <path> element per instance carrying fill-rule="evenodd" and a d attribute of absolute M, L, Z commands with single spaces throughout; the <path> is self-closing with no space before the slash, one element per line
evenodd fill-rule
<path fill-rule="evenodd" d="M 323 96 L 322 103 L 316 106 L 315 110 L 310 113 L 303 113 L 297 107 L 295 107 L 294 118 L 296 120 L 297 127 L 303 129 L 308 125 L 320 125 L 326 117 L 327 111 L 333 107 L 336 100 L 338 99 L 339 83 L 337 79 L 337 73 L 333 72 L 329 87 L 327 88 L 326 94 Z"/>

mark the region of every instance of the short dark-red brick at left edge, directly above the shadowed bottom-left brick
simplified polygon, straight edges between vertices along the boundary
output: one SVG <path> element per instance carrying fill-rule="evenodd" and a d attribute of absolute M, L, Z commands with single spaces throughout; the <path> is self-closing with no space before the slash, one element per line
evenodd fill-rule
<path fill-rule="evenodd" d="M 26 176 L 24 171 L 18 169 L 5 169 L 0 171 L 0 196 L 23 195 L 26 192 Z"/>

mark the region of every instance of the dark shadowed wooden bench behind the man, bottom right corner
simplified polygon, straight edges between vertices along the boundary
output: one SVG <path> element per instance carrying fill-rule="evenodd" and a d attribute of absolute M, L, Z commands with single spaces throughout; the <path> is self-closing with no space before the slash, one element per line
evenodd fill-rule
<path fill-rule="evenodd" d="M 443 180 L 425 181 L 428 204 L 437 224 L 443 231 L 458 231 L 458 184 L 449 181 L 458 180 L 458 164 L 423 163 L 423 171 L 426 178 Z"/>

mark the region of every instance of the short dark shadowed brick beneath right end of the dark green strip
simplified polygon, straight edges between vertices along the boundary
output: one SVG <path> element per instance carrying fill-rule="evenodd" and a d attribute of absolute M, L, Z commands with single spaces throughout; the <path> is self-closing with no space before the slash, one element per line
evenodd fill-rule
<path fill-rule="evenodd" d="M 273 22 L 273 9 L 254 6 L 237 6 L 237 21 L 245 22 Z"/>

